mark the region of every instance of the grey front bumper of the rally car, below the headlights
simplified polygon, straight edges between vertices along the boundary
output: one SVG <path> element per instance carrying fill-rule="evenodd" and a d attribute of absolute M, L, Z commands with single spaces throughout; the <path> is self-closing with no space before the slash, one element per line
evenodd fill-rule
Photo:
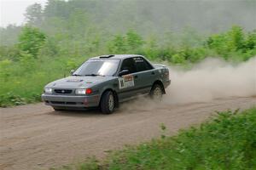
<path fill-rule="evenodd" d="M 45 105 L 58 106 L 58 107 L 89 108 L 89 107 L 97 107 L 100 103 L 99 95 L 74 96 L 74 95 L 42 94 L 41 97 Z"/>

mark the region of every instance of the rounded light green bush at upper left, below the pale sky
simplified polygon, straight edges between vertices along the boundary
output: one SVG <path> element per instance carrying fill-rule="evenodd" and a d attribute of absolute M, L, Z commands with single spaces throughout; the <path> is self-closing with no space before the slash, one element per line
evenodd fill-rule
<path fill-rule="evenodd" d="M 27 54 L 38 57 L 39 49 L 44 45 L 46 36 L 38 28 L 25 26 L 19 36 L 19 48 Z"/>

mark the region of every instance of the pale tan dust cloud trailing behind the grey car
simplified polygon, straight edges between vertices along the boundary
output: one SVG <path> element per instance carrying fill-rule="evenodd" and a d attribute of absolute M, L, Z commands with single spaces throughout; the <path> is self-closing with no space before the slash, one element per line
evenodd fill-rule
<path fill-rule="evenodd" d="M 256 96 L 256 56 L 240 64 L 207 58 L 183 71 L 169 66 L 171 85 L 158 103 L 140 97 L 120 106 L 122 111 L 152 111 L 166 105 L 209 102 L 212 99 Z"/>

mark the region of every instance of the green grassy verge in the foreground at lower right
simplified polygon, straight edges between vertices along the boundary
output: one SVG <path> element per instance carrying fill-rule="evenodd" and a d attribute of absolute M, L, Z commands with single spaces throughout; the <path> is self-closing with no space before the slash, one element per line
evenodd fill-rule
<path fill-rule="evenodd" d="M 86 161 L 56 169 L 256 169 L 256 108 L 224 111 L 197 127 L 110 152 L 103 161 Z M 54 170 L 55 168 L 50 168 Z"/>

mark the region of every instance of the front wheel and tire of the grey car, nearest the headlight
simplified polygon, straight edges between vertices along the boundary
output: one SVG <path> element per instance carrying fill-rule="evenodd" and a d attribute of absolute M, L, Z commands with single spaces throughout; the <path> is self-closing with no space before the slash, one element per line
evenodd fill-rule
<path fill-rule="evenodd" d="M 115 99 L 113 96 L 113 92 L 107 91 L 104 94 L 102 94 L 100 106 L 101 106 L 102 113 L 104 114 L 113 113 L 114 106 L 115 106 Z"/>

